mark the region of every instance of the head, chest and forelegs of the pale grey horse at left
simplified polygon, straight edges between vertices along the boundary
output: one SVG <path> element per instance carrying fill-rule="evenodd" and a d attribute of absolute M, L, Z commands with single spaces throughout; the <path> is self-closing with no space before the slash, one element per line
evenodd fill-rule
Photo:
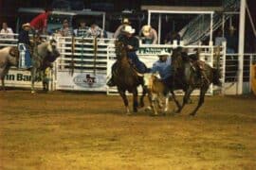
<path fill-rule="evenodd" d="M 45 91 L 48 91 L 48 80 L 46 79 L 46 68 L 51 66 L 51 62 L 60 56 L 57 49 L 57 42 L 50 40 L 35 45 L 32 52 L 31 68 L 31 93 L 35 93 L 34 82 L 42 80 Z M 43 77 L 42 77 L 43 76 Z"/>

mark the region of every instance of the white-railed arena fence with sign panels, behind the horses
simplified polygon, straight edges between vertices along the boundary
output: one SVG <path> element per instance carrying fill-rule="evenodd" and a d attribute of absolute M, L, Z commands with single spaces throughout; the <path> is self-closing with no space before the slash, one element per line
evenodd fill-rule
<path fill-rule="evenodd" d="M 13 39 L 0 37 L 0 47 L 16 45 L 17 34 Z M 61 57 L 54 63 L 49 72 L 51 90 L 92 91 L 117 93 L 116 88 L 106 86 L 107 79 L 111 76 L 111 66 L 116 61 L 115 45 L 113 39 L 88 39 L 78 37 L 55 37 Z M 7 41 L 8 40 L 8 41 Z M 223 88 L 210 87 L 208 94 L 212 93 L 237 93 L 237 62 L 238 55 L 232 54 L 226 57 L 226 44 L 222 46 L 210 45 L 182 45 L 189 54 L 194 49 L 200 50 L 200 59 L 205 60 L 213 67 L 219 67 L 222 72 Z M 141 44 L 137 55 L 139 59 L 152 67 L 157 54 L 165 49 L 172 52 L 177 44 Z M 245 89 L 249 89 L 249 67 L 255 60 L 255 54 L 245 54 L 244 81 Z M 7 86 L 30 87 L 30 73 L 25 70 L 11 68 L 6 76 Z M 247 87 L 248 86 L 248 87 Z M 41 87 L 38 83 L 36 87 Z M 179 92 L 177 92 L 179 93 Z M 197 94 L 195 92 L 194 94 Z"/>

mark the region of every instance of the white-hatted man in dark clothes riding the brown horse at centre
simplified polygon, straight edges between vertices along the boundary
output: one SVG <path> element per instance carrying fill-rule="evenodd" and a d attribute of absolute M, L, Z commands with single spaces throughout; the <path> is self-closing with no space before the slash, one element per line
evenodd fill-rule
<path fill-rule="evenodd" d="M 146 65 L 137 58 L 136 51 L 138 49 L 138 40 L 134 36 L 135 29 L 132 26 L 125 26 L 122 30 L 123 34 L 119 37 L 119 42 L 123 42 L 126 46 L 127 56 L 131 60 L 132 64 L 135 66 L 135 69 L 138 73 L 145 73 L 147 71 Z M 112 72 L 115 63 L 112 66 Z M 112 87 L 115 86 L 113 78 L 111 77 L 107 82 L 107 85 Z"/>

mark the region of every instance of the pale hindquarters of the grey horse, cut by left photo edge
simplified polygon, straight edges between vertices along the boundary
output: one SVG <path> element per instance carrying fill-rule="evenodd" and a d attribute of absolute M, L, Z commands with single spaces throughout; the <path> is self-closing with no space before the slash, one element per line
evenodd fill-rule
<path fill-rule="evenodd" d="M 19 50 L 16 46 L 7 46 L 0 49 L 0 78 L 2 90 L 5 90 L 5 76 L 9 72 L 10 66 L 18 66 Z"/>

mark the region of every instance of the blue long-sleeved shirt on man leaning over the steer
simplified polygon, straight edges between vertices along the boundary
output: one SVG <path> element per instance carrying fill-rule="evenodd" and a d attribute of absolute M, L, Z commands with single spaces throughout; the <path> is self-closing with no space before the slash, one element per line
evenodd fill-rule
<path fill-rule="evenodd" d="M 168 57 L 166 61 L 156 60 L 153 64 L 151 72 L 158 72 L 162 79 L 172 76 L 171 61 L 171 57 Z"/>

